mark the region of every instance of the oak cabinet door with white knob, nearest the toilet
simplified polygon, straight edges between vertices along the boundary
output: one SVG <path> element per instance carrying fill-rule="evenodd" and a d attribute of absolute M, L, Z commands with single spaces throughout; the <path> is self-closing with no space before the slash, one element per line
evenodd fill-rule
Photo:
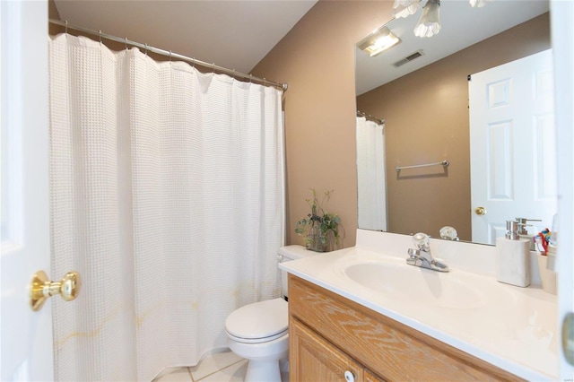
<path fill-rule="evenodd" d="M 290 381 L 361 382 L 363 380 L 361 365 L 293 318 L 289 326 L 289 360 Z"/>

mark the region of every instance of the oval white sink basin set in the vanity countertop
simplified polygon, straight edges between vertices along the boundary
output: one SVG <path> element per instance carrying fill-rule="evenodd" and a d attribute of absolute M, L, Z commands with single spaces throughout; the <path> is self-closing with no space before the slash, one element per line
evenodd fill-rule
<path fill-rule="evenodd" d="M 477 308 L 486 303 L 483 292 L 458 280 L 453 273 L 405 264 L 361 263 L 349 265 L 344 274 L 352 282 L 391 299 L 455 309 Z"/>

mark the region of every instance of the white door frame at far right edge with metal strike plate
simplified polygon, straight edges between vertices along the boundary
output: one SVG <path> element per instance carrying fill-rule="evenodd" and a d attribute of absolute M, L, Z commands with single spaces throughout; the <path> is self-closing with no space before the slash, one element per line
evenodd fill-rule
<path fill-rule="evenodd" d="M 574 313 L 574 2 L 552 1 L 551 28 L 554 51 L 556 89 L 556 130 L 558 137 L 558 319 L 561 327 L 559 338 L 560 380 L 574 380 L 574 323 L 564 321 Z M 571 317 L 571 316 L 570 316 Z M 570 338 L 563 329 L 570 328 Z M 568 332 L 568 331 L 567 331 Z"/>

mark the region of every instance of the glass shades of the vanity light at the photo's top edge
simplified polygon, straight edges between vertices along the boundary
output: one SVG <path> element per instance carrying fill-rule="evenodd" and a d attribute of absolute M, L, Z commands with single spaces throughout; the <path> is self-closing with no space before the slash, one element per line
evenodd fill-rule
<path fill-rule="evenodd" d="M 469 0 L 470 6 L 481 8 L 491 0 Z M 421 7 L 422 0 L 395 0 L 393 4 L 393 16 L 396 18 L 408 17 L 416 13 Z M 440 31 L 439 20 L 440 0 L 427 0 L 422 7 L 422 15 L 416 27 L 414 35 L 417 37 L 432 37 Z"/>

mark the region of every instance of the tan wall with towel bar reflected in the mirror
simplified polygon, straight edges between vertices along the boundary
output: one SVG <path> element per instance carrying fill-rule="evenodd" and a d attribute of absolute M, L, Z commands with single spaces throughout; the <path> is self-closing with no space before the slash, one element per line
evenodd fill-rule
<path fill-rule="evenodd" d="M 388 231 L 438 237 L 448 225 L 471 241 L 467 76 L 548 48 L 544 13 L 357 97 L 358 110 L 386 120 Z M 397 166 L 442 160 L 448 168 L 397 176 Z"/>

